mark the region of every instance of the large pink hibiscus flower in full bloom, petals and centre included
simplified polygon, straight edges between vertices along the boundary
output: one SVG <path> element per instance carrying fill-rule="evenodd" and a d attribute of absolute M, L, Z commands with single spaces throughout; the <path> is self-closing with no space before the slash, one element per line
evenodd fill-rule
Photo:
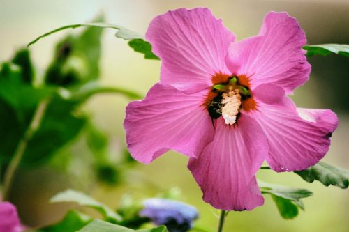
<path fill-rule="evenodd" d="M 264 202 L 255 180 L 264 160 L 296 171 L 327 153 L 336 114 L 297 108 L 286 96 L 311 71 L 295 18 L 270 12 L 258 36 L 236 42 L 209 9 L 182 8 L 156 17 L 146 38 L 161 58 L 161 80 L 126 109 L 135 160 L 183 153 L 207 203 L 251 210 Z"/>

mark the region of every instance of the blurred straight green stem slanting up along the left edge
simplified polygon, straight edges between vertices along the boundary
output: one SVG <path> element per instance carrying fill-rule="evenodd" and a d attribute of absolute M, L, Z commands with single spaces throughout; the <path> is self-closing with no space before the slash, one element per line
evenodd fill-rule
<path fill-rule="evenodd" d="M 28 143 L 35 134 L 35 132 L 40 127 L 41 121 L 43 120 L 43 116 L 45 114 L 45 110 L 47 109 L 47 105 L 50 101 L 48 99 L 43 100 L 39 103 L 38 107 L 36 107 L 36 111 L 34 112 L 33 118 L 31 118 L 31 122 L 27 127 L 27 130 L 24 132 L 20 143 L 17 145 L 15 153 L 13 155 L 13 159 L 10 161 L 8 168 L 3 177 L 3 201 L 9 199 L 10 189 L 13 183 L 13 178 L 15 177 L 15 172 L 20 165 L 23 154 L 27 149 Z"/>

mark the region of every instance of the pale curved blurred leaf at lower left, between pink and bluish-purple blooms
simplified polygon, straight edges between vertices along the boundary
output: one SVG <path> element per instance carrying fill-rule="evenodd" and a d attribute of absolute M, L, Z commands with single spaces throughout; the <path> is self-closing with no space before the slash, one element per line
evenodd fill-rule
<path fill-rule="evenodd" d="M 66 190 L 54 196 L 51 202 L 75 202 L 80 206 L 87 206 L 98 210 L 101 214 L 110 222 L 119 222 L 121 217 L 117 215 L 109 207 L 105 206 L 103 203 L 96 201 L 95 199 L 83 194 L 82 192 L 77 192 L 75 190 Z"/>

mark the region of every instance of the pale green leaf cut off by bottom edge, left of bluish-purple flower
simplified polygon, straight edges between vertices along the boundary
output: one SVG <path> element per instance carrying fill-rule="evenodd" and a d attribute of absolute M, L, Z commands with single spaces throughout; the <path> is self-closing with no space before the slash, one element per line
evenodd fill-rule
<path fill-rule="evenodd" d="M 134 232 L 134 230 L 95 219 L 87 224 L 87 226 L 84 226 L 79 232 Z"/>

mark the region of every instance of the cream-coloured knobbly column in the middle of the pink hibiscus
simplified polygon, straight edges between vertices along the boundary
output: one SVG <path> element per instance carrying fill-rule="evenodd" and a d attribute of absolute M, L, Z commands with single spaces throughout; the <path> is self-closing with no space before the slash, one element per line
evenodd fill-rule
<path fill-rule="evenodd" d="M 239 89 L 222 94 L 221 110 L 225 124 L 233 125 L 237 121 L 237 114 L 239 114 L 241 104 Z"/>

